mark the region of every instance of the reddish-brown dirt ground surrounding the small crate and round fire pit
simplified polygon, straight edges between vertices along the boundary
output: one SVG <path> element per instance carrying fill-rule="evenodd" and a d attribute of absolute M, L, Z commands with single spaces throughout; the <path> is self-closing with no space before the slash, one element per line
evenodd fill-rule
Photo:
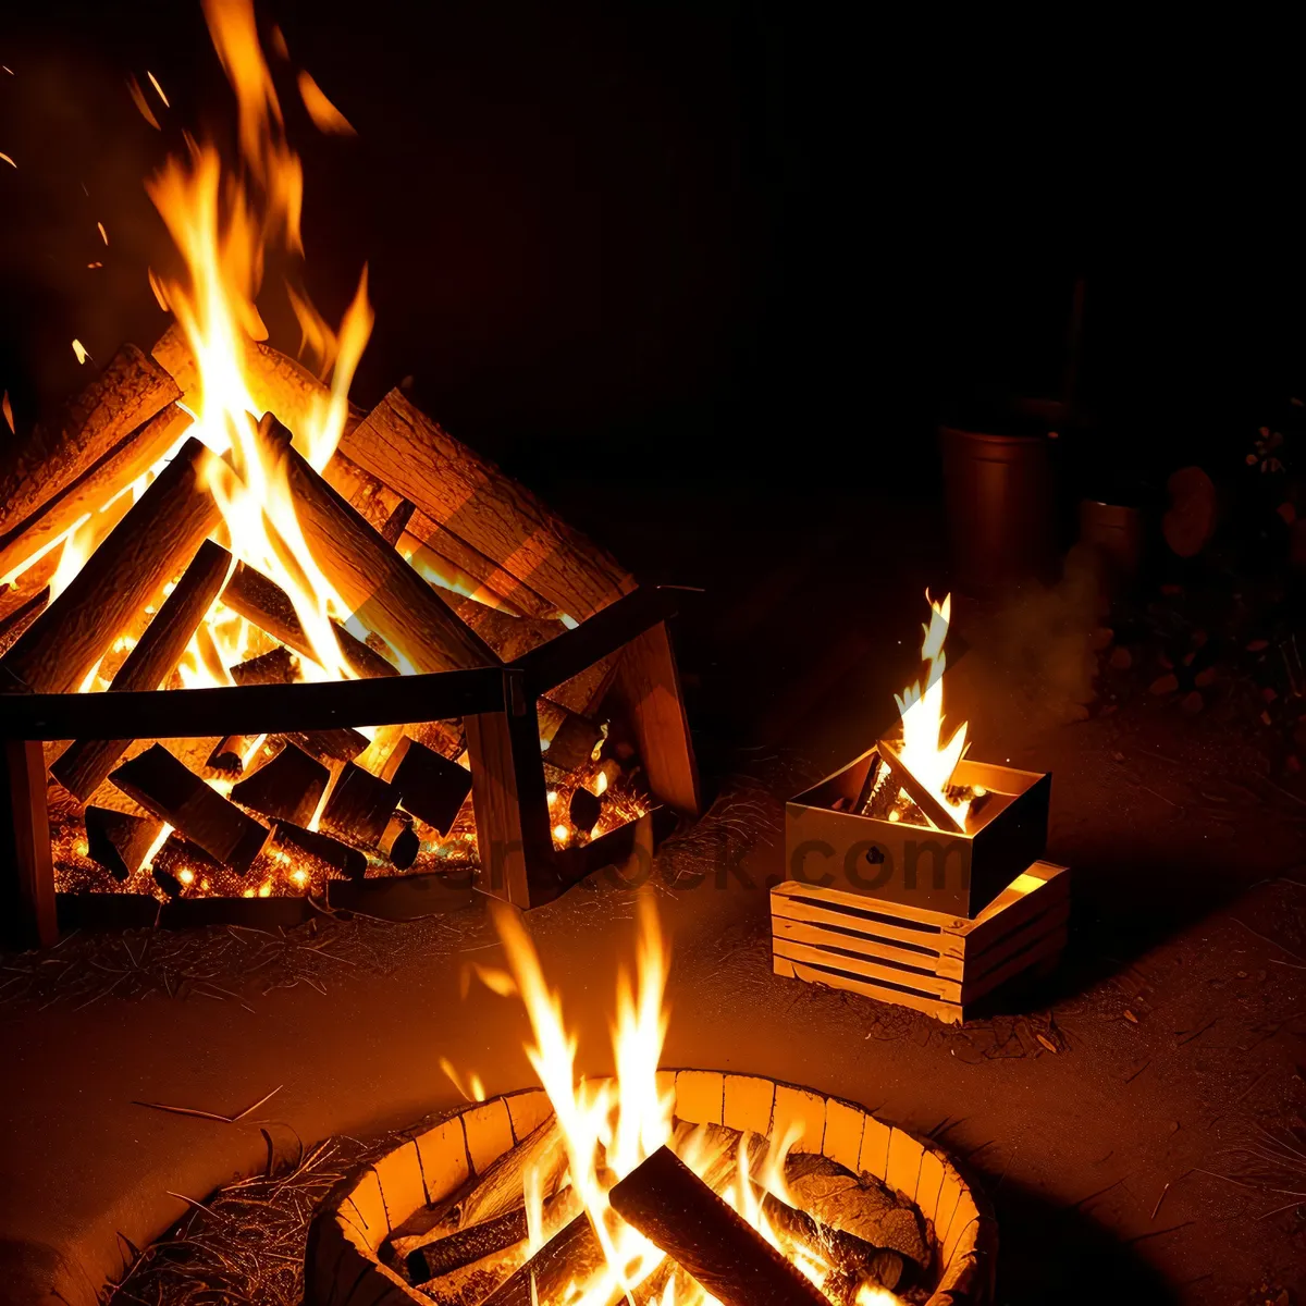
<path fill-rule="evenodd" d="M 1081 718 L 1046 660 L 963 614 L 949 710 L 977 756 L 1054 774 L 1068 956 L 960 1029 L 772 974 L 784 798 L 892 716 L 942 575 L 925 547 L 867 568 L 845 509 L 816 528 L 741 495 L 687 511 L 677 556 L 639 517 L 611 541 L 713 594 L 679 640 L 716 804 L 653 882 L 675 949 L 665 1063 L 808 1084 L 966 1157 L 998 1211 L 999 1301 L 1306 1299 L 1306 802 L 1215 717 L 1143 695 Z M 581 1068 L 609 1070 L 631 891 L 581 885 L 530 927 Z M 287 1147 L 407 1124 L 456 1100 L 441 1058 L 490 1093 L 529 1083 L 520 1010 L 461 996 L 495 948 L 483 904 L 451 895 L 407 925 L 77 935 L 0 959 L 0 1301 L 95 1301 L 184 1199 L 264 1162 L 260 1124 Z M 235 1124 L 140 1105 L 232 1115 L 272 1089 Z"/>

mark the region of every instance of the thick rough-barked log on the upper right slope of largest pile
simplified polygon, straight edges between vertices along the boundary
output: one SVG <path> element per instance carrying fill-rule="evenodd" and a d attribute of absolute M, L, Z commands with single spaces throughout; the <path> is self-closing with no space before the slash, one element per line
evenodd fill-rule
<path fill-rule="evenodd" d="M 629 593 L 632 577 L 487 460 L 390 390 L 341 453 L 576 620 Z"/>

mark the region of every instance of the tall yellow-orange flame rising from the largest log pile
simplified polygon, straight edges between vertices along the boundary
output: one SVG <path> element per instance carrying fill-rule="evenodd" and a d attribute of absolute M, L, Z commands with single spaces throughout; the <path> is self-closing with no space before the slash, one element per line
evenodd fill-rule
<path fill-rule="evenodd" d="M 204 9 L 236 94 L 243 172 L 249 184 L 225 174 L 214 145 L 188 140 L 188 158 L 170 158 L 146 183 L 185 260 L 187 277 L 151 273 L 150 283 L 158 302 L 176 316 L 195 355 L 202 396 L 195 434 L 214 452 L 229 456 L 227 462 L 214 466 L 209 490 L 222 512 L 231 551 L 290 597 L 316 663 L 303 665 L 304 678 L 346 679 L 353 671 L 340 653 L 330 620 L 346 616 L 347 609 L 308 549 L 289 485 L 286 451 L 260 434 L 253 421 L 260 410 L 247 379 L 249 351 L 266 337 L 256 306 L 266 249 L 279 242 L 291 253 L 303 251 L 302 167 L 285 137 L 251 0 L 205 0 Z M 338 333 L 306 296 L 293 294 L 293 304 L 306 341 L 323 370 L 332 374 L 326 397 L 315 398 L 293 432 L 296 448 L 320 470 L 340 440 L 349 385 L 371 334 L 367 272 Z M 230 663 L 244 632 L 235 622 L 225 631 L 219 661 Z M 195 652 L 204 652 L 202 640 Z M 189 661 L 192 674 L 199 674 L 209 660 Z M 225 666 L 214 679 L 226 683 Z"/>

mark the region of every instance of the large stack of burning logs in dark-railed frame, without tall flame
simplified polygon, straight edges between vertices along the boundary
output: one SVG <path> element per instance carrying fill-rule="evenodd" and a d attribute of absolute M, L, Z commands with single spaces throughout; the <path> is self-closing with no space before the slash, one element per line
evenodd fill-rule
<path fill-rule="evenodd" d="M 350 411 L 319 474 L 290 432 L 325 387 L 265 345 L 247 364 L 268 414 L 259 439 L 286 470 L 311 562 L 353 611 L 330 627 L 350 675 L 511 663 L 635 590 L 609 555 L 398 390 L 370 414 Z M 225 469 L 187 436 L 196 387 L 175 326 L 153 355 L 124 346 L 0 465 L 0 692 L 323 678 L 290 597 L 230 551 L 209 490 Z M 215 632 L 242 620 L 231 660 Z M 538 701 L 558 849 L 656 804 L 637 731 L 613 712 L 619 665 L 620 650 L 601 657 Z M 268 897 L 468 867 L 488 782 L 478 750 L 491 742 L 461 720 L 166 747 L 48 743 L 56 887 Z"/>

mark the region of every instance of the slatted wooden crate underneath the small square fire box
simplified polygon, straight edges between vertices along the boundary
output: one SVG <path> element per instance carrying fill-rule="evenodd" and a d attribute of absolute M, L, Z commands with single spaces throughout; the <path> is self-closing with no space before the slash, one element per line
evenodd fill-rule
<path fill-rule="evenodd" d="M 1066 946 L 1070 872 L 1034 862 L 974 919 L 786 880 L 771 891 L 778 976 L 960 1024 L 981 998 Z"/>

